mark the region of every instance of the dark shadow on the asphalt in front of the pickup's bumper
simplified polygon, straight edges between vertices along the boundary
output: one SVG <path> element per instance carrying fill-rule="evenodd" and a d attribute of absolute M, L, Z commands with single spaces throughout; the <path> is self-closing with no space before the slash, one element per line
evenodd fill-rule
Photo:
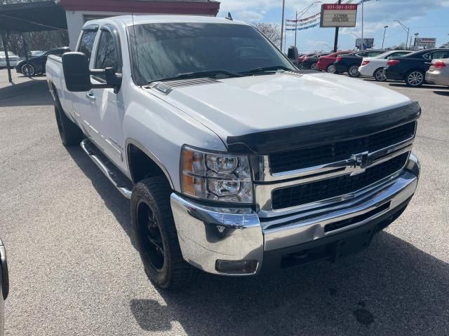
<path fill-rule="evenodd" d="M 187 335 L 443 335 L 449 265 L 380 232 L 368 250 L 272 276 L 204 275 L 162 300 L 135 299 L 140 328 Z"/>

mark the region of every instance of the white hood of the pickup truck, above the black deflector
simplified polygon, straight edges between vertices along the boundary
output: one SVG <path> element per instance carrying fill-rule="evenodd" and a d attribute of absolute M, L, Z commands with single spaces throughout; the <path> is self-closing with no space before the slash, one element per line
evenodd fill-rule
<path fill-rule="evenodd" d="M 380 85 L 330 73 L 276 73 L 175 87 L 163 96 L 226 141 L 279 130 L 377 113 L 410 104 Z"/>

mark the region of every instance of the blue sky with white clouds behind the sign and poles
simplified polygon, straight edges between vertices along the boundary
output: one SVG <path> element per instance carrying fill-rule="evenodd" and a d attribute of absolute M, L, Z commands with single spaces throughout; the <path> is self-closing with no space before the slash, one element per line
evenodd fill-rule
<path fill-rule="evenodd" d="M 295 10 L 301 11 L 314 0 L 286 0 L 286 18 L 294 18 Z M 326 1 L 325 3 L 335 3 Z M 346 2 L 343 0 L 342 3 Z M 356 3 L 357 1 L 353 1 Z M 316 3 L 303 18 L 318 13 L 321 3 Z M 218 16 L 230 11 L 236 20 L 246 22 L 274 22 L 281 24 L 282 0 L 221 0 Z M 406 42 L 407 33 L 397 22 L 410 27 L 415 37 L 436 37 L 437 47 L 449 41 L 449 0 L 377 0 L 364 4 L 363 37 L 375 38 L 375 48 L 382 46 L 384 26 L 388 25 L 385 47 Z M 356 36 L 361 36 L 361 6 L 358 6 L 357 24 L 354 28 L 340 29 L 339 48 L 353 49 Z M 294 44 L 294 31 L 288 31 L 286 45 Z M 300 51 L 329 50 L 333 46 L 335 29 L 312 28 L 297 32 L 297 46 Z M 413 40 L 412 40 L 413 41 Z M 408 42 L 410 43 L 410 36 Z"/>

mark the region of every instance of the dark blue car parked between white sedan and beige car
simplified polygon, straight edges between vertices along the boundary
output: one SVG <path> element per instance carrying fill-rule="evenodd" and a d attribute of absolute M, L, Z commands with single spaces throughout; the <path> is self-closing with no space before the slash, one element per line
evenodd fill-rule
<path fill-rule="evenodd" d="M 385 76 L 387 80 L 403 80 L 408 86 L 418 87 L 425 83 L 431 60 L 448 57 L 449 49 L 424 49 L 402 57 L 391 57 L 387 61 Z"/>

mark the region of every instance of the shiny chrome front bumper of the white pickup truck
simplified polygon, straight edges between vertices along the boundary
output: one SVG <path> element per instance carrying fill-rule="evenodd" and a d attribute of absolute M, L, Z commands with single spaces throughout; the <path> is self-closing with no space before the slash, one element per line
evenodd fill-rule
<path fill-rule="evenodd" d="M 321 260 L 323 255 L 330 258 L 335 253 L 328 252 L 340 237 L 358 235 L 358 230 L 366 231 L 366 228 L 381 230 L 394 221 L 415 193 L 419 173 L 417 158 L 410 155 L 406 170 L 363 199 L 351 200 L 347 207 L 330 208 L 325 215 L 293 214 L 283 223 L 278 220 L 276 225 L 268 227 L 253 209 L 208 207 L 173 193 L 171 208 L 182 256 L 205 272 L 224 275 L 256 274 L 262 265 L 264 270 L 283 268 L 284 256 L 290 258 L 287 255 L 295 251 L 309 251 L 307 246 L 311 244 L 314 251 L 327 251 L 327 254 L 318 253 L 315 258 L 312 253 L 307 255 L 310 260 L 303 260 Z M 367 246 L 366 242 L 363 246 Z M 254 267 L 244 272 L 227 272 L 219 269 L 217 260 L 250 260 Z"/>

